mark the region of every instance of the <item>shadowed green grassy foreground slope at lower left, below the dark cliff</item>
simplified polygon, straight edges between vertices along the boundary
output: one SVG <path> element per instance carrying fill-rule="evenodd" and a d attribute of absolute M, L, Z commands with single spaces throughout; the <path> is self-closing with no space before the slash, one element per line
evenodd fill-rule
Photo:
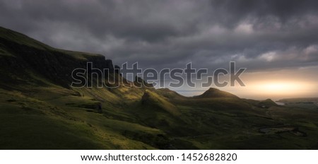
<path fill-rule="evenodd" d="M 47 100 L 42 101 L 37 99 L 40 95 L 28 98 L 23 93 L 1 90 L 1 148 L 148 149 L 153 147 L 127 139 L 122 133 L 125 129 L 138 129 L 160 134 L 158 129 L 107 118 L 87 112 L 87 108 L 64 104 L 68 100 L 77 105 L 89 104 L 93 100 L 64 95 L 63 90 L 60 95 L 54 90 L 52 99 L 48 100 L 49 93 L 46 90 Z"/>

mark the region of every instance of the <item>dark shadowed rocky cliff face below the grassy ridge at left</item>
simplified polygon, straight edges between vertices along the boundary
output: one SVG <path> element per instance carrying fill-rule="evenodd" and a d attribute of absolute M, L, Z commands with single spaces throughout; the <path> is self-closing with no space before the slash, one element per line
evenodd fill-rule
<path fill-rule="evenodd" d="M 0 32 L 3 31 L 1 29 Z M 2 85 L 18 83 L 20 78 L 22 80 L 30 78 L 25 74 L 33 74 L 68 88 L 72 81 L 72 71 L 77 68 L 86 69 L 87 62 L 92 62 L 93 68 L 110 69 L 110 72 L 114 73 L 112 60 L 105 59 L 99 54 L 69 52 L 45 45 L 40 48 L 21 45 L 20 42 L 14 42 L 14 40 L 2 36 L 3 34 L 0 35 L 0 78 L 4 82 Z M 28 40 L 28 38 L 20 38 L 20 40 L 22 39 Z M 16 77 L 17 75 L 18 77 Z"/>

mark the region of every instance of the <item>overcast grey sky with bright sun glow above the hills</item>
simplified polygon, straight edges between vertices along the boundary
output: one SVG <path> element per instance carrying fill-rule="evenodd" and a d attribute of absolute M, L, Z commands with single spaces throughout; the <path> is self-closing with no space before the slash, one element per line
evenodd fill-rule
<path fill-rule="evenodd" d="M 318 97 L 315 0 L 1 0 L 0 25 L 143 69 L 192 62 L 215 70 L 235 61 L 247 68 L 246 86 L 220 89 L 242 98 Z"/>

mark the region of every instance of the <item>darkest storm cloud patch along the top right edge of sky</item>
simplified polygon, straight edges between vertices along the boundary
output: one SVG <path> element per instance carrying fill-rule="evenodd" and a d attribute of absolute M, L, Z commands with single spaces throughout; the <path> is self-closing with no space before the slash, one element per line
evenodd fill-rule
<path fill-rule="evenodd" d="M 253 16 L 264 18 L 266 16 L 276 16 L 281 21 L 288 21 L 291 17 L 302 16 L 307 13 L 317 13 L 318 1 L 300 1 L 300 0 L 213 0 L 218 13 L 222 14 L 221 20 L 227 24 L 240 21 L 246 17 Z"/>

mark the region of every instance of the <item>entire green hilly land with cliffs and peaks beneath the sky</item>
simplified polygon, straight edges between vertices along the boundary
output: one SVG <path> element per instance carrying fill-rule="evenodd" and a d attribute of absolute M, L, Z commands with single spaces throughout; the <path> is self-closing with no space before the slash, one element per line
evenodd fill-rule
<path fill-rule="evenodd" d="M 132 87 L 72 88 L 71 72 L 87 62 Z M 0 28 L 0 149 L 318 148 L 318 110 L 216 88 L 185 97 L 115 67 Z"/>

